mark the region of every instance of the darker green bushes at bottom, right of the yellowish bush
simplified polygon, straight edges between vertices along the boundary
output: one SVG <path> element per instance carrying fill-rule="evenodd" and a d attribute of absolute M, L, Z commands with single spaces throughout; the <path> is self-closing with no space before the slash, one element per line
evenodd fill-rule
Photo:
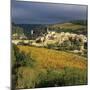
<path fill-rule="evenodd" d="M 68 85 L 87 84 L 87 70 L 76 68 L 65 68 L 64 70 L 47 70 L 47 73 L 40 73 L 40 82 L 36 87 L 54 87 Z"/>

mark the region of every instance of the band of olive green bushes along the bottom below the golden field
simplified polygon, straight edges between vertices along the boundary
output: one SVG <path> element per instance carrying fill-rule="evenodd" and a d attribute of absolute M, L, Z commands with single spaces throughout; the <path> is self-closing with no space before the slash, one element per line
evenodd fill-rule
<path fill-rule="evenodd" d="M 87 84 L 86 70 L 65 69 L 31 69 L 21 67 L 18 71 L 17 88 L 42 88 L 67 85 Z"/>

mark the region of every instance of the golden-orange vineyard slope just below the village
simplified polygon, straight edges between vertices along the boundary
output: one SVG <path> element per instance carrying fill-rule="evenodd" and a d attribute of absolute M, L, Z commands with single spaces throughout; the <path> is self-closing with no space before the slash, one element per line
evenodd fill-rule
<path fill-rule="evenodd" d="M 46 48 L 37 48 L 29 46 L 19 46 L 21 51 L 30 53 L 32 58 L 38 62 L 39 67 L 43 68 L 86 68 L 86 59 L 64 51 L 50 50 Z"/>

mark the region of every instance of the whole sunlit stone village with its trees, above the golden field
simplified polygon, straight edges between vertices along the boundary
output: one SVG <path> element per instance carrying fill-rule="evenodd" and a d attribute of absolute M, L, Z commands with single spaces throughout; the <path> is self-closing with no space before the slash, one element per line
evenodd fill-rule
<path fill-rule="evenodd" d="M 31 35 L 33 34 L 33 30 L 31 30 Z M 20 36 L 15 33 L 12 35 L 12 43 L 15 45 L 30 45 L 36 47 L 48 47 L 51 45 L 54 49 L 58 49 L 58 47 L 63 47 L 64 49 L 65 47 L 69 47 L 68 50 L 71 52 L 81 53 L 83 55 L 85 46 L 87 45 L 87 37 L 83 34 L 78 35 L 70 32 L 57 33 L 47 29 L 47 33 L 38 36 L 35 40 L 28 39 L 24 33 Z"/>

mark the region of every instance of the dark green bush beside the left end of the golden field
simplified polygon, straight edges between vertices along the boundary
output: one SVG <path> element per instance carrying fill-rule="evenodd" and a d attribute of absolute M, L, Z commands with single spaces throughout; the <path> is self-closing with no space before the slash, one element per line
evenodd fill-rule
<path fill-rule="evenodd" d="M 25 52 L 20 52 L 19 48 L 14 45 L 14 54 L 16 57 L 16 66 L 30 66 L 32 67 L 34 65 L 35 60 L 31 58 L 30 53 L 25 54 Z"/>

